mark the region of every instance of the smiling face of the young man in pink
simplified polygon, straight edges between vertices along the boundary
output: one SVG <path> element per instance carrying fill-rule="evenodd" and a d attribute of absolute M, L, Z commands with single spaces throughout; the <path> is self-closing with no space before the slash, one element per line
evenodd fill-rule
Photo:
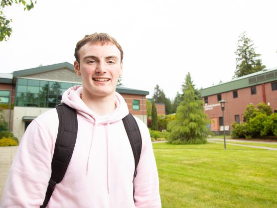
<path fill-rule="evenodd" d="M 80 48 L 79 57 L 80 63 L 75 61 L 74 69 L 76 74 L 82 77 L 83 95 L 113 95 L 123 71 L 120 50 L 116 45 L 87 43 Z"/>

